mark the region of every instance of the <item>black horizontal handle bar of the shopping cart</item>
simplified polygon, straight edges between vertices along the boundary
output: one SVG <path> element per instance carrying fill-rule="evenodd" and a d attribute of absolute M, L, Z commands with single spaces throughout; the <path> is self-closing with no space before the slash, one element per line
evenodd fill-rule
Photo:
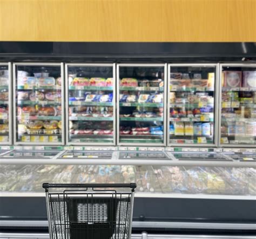
<path fill-rule="evenodd" d="M 43 183 L 45 192 L 49 188 L 136 188 L 136 183 Z"/>

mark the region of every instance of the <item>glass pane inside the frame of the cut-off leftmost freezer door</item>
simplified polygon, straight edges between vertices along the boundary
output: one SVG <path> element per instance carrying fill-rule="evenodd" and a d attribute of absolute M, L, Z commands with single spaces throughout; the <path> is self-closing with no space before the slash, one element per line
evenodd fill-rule
<path fill-rule="evenodd" d="M 0 65 L 0 143 L 9 142 L 9 70 Z"/>

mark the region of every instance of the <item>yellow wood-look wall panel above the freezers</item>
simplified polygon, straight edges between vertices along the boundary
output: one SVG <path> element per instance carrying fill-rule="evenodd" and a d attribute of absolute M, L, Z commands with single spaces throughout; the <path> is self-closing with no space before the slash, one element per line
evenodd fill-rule
<path fill-rule="evenodd" d="M 256 42 L 256 0 L 0 0 L 0 40 Z"/>

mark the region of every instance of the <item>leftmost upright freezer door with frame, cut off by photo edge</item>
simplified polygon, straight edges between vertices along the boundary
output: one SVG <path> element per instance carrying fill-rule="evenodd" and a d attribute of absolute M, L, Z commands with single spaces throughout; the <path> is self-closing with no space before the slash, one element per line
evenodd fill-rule
<path fill-rule="evenodd" d="M 12 143 L 11 63 L 0 63 L 0 144 Z"/>

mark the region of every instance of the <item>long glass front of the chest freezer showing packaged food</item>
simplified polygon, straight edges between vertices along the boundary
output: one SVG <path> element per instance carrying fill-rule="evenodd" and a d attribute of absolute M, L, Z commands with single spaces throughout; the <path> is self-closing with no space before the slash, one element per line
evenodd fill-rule
<path fill-rule="evenodd" d="M 100 165 L 0 165 L 2 192 L 43 193 L 43 182 L 137 183 L 136 195 L 255 196 L 255 168 L 100 166 Z M 144 194 L 145 196 L 145 194 Z M 190 197 L 190 196 L 189 196 Z"/>

